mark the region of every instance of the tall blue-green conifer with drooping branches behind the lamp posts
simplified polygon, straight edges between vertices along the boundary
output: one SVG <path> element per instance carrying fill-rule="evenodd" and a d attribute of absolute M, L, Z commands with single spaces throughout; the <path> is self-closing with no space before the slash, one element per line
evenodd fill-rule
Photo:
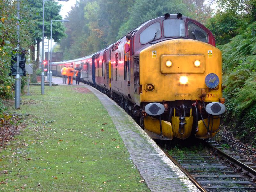
<path fill-rule="evenodd" d="M 33 35 L 34 45 L 31 46 L 31 60 L 34 61 L 35 45 L 36 45 L 36 62 L 34 62 L 32 81 L 36 81 L 36 69 L 39 67 L 40 59 L 40 42 L 42 40 L 42 18 L 43 18 L 43 4 L 42 0 L 27 0 L 30 4 L 27 12 L 30 14 L 31 20 L 34 21 L 31 26 L 31 34 Z M 62 20 L 59 12 L 61 5 L 56 2 L 46 1 L 44 6 L 44 36 L 50 39 L 51 20 Z M 52 38 L 55 42 L 59 42 L 65 36 L 65 28 L 61 22 L 52 22 Z"/>

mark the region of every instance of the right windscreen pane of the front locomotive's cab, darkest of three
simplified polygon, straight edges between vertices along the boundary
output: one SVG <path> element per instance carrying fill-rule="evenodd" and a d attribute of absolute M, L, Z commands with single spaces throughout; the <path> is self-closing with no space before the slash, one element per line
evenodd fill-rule
<path fill-rule="evenodd" d="M 192 22 L 188 22 L 188 37 L 205 43 L 208 43 L 209 41 L 208 34 L 204 29 Z"/>

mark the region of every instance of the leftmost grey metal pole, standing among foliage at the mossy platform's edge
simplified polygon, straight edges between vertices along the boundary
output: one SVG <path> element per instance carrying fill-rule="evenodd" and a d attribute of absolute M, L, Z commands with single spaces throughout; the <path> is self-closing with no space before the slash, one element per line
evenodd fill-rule
<path fill-rule="evenodd" d="M 21 95 L 21 78 L 19 73 L 20 67 L 20 0 L 17 0 L 17 36 L 18 36 L 18 45 L 17 45 L 17 68 L 16 68 L 16 76 L 15 76 L 15 109 L 20 109 L 20 95 Z"/>

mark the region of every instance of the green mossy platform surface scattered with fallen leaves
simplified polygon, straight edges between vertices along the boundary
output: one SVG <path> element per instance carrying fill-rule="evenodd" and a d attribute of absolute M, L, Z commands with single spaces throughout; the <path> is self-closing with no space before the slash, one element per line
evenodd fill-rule
<path fill-rule="evenodd" d="M 149 191 L 94 94 L 32 86 L 22 103 L 27 128 L 1 150 L 0 191 Z"/>

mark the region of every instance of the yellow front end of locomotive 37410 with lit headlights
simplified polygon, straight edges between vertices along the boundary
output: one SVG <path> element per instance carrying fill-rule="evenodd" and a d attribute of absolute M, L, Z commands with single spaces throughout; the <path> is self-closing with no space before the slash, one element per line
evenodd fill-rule
<path fill-rule="evenodd" d="M 219 115 L 225 111 L 219 104 L 223 100 L 219 49 L 192 39 L 172 39 L 145 48 L 139 58 L 142 108 L 152 102 L 165 108 L 160 124 L 153 116 L 144 117 L 146 130 L 165 139 L 192 134 L 209 138 L 219 131 Z"/>

